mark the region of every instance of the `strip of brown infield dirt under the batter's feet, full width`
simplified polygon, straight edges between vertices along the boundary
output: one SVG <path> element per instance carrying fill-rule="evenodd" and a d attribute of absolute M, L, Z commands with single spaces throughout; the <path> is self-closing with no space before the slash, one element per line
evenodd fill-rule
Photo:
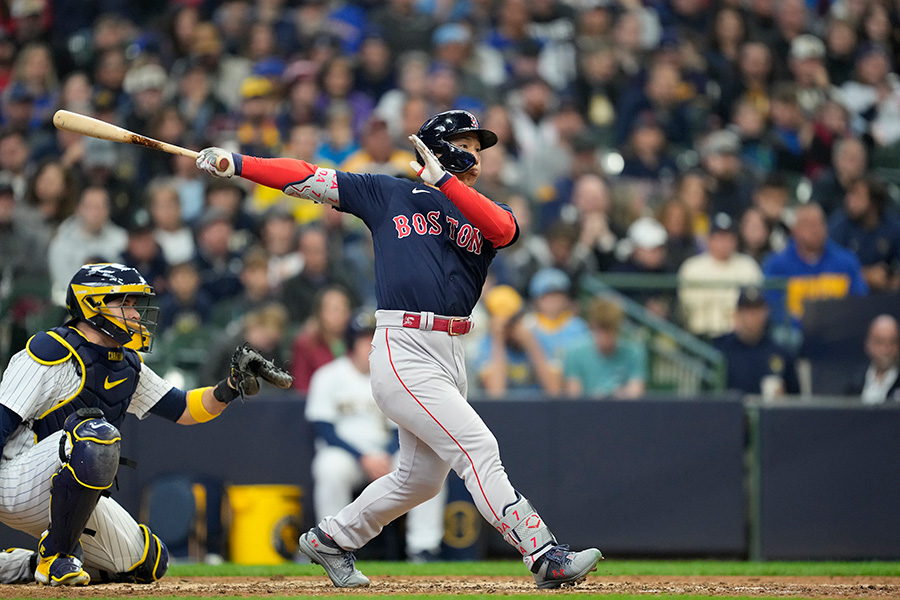
<path fill-rule="evenodd" d="M 386 596 L 405 594 L 546 594 L 527 577 L 373 577 L 368 589 L 340 590 L 324 577 L 176 577 L 152 585 L 86 588 L 0 586 L 0 598 L 158 596 Z M 900 577 L 604 577 L 592 576 L 562 594 L 695 594 L 804 598 L 900 598 Z"/>

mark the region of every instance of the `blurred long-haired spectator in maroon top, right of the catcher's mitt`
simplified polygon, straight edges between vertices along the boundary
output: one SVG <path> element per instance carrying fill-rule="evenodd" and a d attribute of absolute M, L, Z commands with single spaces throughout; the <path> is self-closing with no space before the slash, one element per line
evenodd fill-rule
<path fill-rule="evenodd" d="M 291 345 L 288 370 L 294 376 L 294 389 L 306 393 L 313 373 L 346 353 L 350 308 L 350 296 L 338 285 L 325 285 L 316 292 L 312 316 Z"/>

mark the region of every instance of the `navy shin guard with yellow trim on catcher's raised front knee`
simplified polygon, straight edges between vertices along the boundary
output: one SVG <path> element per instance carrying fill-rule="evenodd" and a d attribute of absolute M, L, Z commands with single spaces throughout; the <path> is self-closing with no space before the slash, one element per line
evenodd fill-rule
<path fill-rule="evenodd" d="M 79 409 L 63 426 L 63 466 L 50 480 L 50 529 L 40 543 L 42 558 L 72 555 L 103 490 L 119 468 L 119 430 L 99 409 Z"/>

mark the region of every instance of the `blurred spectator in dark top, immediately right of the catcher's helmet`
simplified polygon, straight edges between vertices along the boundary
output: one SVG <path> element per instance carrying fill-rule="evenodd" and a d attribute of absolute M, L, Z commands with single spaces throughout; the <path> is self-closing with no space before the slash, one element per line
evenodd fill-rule
<path fill-rule="evenodd" d="M 192 262 L 172 265 L 168 283 L 168 291 L 159 299 L 157 330 L 166 340 L 199 332 L 209 320 L 216 297 L 203 289 L 197 266 Z"/>

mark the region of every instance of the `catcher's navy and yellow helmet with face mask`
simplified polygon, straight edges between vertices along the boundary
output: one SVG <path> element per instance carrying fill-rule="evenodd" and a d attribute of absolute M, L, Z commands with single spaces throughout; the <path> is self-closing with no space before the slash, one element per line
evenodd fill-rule
<path fill-rule="evenodd" d="M 117 263 L 84 265 L 66 290 L 66 309 L 73 319 L 87 321 L 126 348 L 149 351 L 156 329 L 159 308 L 150 305 L 153 288 L 136 269 Z M 113 299 L 121 303 L 110 306 Z M 126 319 L 125 302 L 134 298 L 130 308 L 138 320 Z"/>

